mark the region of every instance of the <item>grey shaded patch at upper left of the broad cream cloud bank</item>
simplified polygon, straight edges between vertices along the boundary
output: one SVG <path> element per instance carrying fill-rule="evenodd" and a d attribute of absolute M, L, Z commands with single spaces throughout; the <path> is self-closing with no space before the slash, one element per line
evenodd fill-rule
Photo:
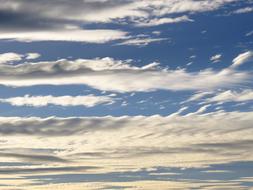
<path fill-rule="evenodd" d="M 109 130 L 124 125 L 127 119 L 112 121 L 103 118 L 48 118 L 21 119 L 17 122 L 1 122 L 0 133 L 5 135 L 64 136 L 84 134 L 98 129 Z M 118 124 L 118 125 L 117 125 Z"/>

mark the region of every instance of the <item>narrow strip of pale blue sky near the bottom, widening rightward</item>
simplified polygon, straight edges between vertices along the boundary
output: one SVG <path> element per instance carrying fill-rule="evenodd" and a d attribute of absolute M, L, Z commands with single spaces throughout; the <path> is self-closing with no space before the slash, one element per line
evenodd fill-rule
<path fill-rule="evenodd" d="M 38 184 L 78 183 L 78 182 L 134 182 L 134 181 L 178 181 L 192 183 L 230 183 L 237 181 L 242 186 L 251 187 L 253 182 L 242 180 L 251 178 L 252 162 L 232 162 L 210 165 L 207 168 L 163 168 L 142 169 L 136 172 L 110 172 L 98 174 L 62 174 L 24 176 L 36 180 Z"/>

